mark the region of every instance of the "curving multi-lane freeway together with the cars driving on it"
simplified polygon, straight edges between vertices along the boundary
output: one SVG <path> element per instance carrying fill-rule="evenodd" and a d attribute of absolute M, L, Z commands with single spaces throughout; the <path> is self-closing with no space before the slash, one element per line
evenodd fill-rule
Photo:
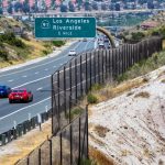
<path fill-rule="evenodd" d="M 0 72 L 0 133 L 11 129 L 13 123 L 22 123 L 47 111 L 51 108 L 51 75 L 73 56 L 94 48 L 110 48 L 110 43 L 103 35 L 95 40 L 82 38 L 56 56 Z"/>

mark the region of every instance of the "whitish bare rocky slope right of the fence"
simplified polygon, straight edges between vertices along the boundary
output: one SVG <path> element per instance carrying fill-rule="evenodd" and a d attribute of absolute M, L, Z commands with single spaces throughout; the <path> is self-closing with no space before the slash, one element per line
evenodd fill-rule
<path fill-rule="evenodd" d="M 165 164 L 165 66 L 148 82 L 91 108 L 89 144 L 121 165 Z"/>

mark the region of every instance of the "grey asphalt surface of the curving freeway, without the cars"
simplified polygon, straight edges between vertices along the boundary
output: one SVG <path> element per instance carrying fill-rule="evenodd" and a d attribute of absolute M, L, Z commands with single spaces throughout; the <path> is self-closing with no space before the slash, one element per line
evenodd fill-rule
<path fill-rule="evenodd" d="M 69 50 L 77 54 L 92 50 L 94 40 L 76 42 L 56 56 L 19 68 L 0 70 L 0 85 L 11 88 L 28 88 L 33 92 L 33 101 L 29 103 L 9 103 L 8 99 L 0 99 L 0 133 L 11 129 L 37 113 L 51 108 L 51 75 L 70 58 Z"/>

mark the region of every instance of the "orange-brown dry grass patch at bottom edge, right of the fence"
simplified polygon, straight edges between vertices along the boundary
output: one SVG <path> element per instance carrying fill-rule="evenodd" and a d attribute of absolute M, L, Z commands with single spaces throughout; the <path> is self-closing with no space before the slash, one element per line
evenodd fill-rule
<path fill-rule="evenodd" d="M 114 165 L 112 158 L 107 157 L 100 151 L 94 148 L 92 146 L 89 147 L 89 157 L 97 162 L 97 165 Z"/>

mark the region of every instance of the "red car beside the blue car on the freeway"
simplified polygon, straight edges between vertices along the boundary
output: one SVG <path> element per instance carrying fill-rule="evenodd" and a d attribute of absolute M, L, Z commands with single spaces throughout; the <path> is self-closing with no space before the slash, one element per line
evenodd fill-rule
<path fill-rule="evenodd" d="M 9 95 L 9 103 L 33 101 L 33 94 L 26 89 L 13 89 Z"/>

